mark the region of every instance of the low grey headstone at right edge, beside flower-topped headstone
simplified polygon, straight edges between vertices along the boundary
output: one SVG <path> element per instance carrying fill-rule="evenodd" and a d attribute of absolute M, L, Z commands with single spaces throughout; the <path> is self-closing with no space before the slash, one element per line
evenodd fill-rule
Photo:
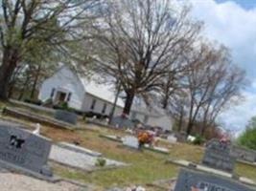
<path fill-rule="evenodd" d="M 244 160 L 247 162 L 256 162 L 256 151 L 246 149 L 241 146 L 233 145 L 231 149 L 231 155 L 236 159 Z"/>

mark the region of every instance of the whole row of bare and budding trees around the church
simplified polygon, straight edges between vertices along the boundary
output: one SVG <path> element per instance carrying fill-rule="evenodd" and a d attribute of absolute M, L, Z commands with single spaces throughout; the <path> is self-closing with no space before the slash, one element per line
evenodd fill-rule
<path fill-rule="evenodd" d="M 28 89 L 35 96 L 62 61 L 121 84 L 125 114 L 141 97 L 172 114 L 187 135 L 195 128 L 204 135 L 240 100 L 244 72 L 173 0 L 3 0 L 0 16 L 2 99 L 15 86 L 20 98 Z"/>

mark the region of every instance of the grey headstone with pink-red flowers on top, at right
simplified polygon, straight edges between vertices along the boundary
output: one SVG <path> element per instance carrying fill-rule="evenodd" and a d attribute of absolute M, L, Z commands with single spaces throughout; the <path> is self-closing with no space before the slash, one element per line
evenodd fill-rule
<path fill-rule="evenodd" d="M 231 156 L 231 144 L 212 139 L 207 143 L 203 165 L 232 173 L 235 166 L 235 158 Z"/>

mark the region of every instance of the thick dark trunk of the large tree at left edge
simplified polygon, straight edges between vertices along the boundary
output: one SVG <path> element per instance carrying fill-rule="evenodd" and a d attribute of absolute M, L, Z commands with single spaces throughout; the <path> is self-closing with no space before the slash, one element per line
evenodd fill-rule
<path fill-rule="evenodd" d="M 17 51 L 5 50 L 0 67 L 0 99 L 8 99 L 10 79 L 18 62 Z"/>

